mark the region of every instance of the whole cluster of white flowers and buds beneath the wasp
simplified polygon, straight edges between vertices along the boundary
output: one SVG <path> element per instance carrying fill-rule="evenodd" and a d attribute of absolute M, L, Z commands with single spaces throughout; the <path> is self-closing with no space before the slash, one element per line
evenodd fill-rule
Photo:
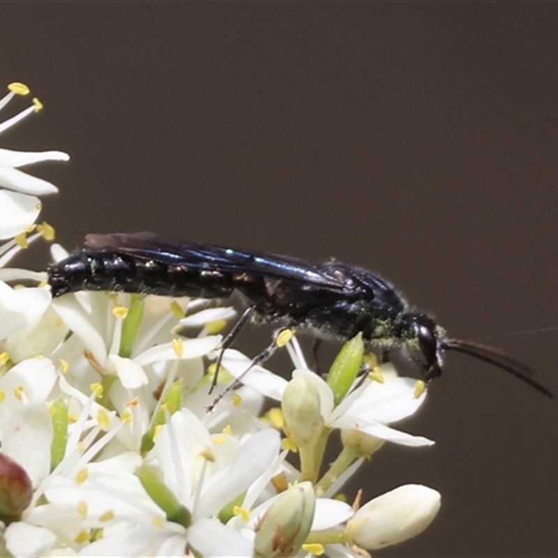
<path fill-rule="evenodd" d="M 357 497 L 352 506 L 334 499 L 384 442 L 432 444 L 389 426 L 412 415 L 425 392 L 389 364 L 372 362 L 357 378 L 360 338 L 345 345 L 326 380 L 289 342 L 290 381 L 254 367 L 208 413 L 215 394 L 207 370 L 216 371 L 207 363 L 231 308 L 91 292 L 52 301 L 46 286 L 3 281 L 44 278 L 5 266 L 33 231 L 33 194 L 56 191 L 15 167 L 67 158 L 0 150 L 0 186 L 17 190 L 0 190 L 3 553 L 361 556 L 425 529 L 440 501 L 425 486 L 403 485 L 365 504 Z M 50 231 L 43 225 L 37 234 Z M 197 336 L 176 335 L 188 329 Z M 222 365 L 218 389 L 250 359 L 227 349 Z M 277 406 L 262 414 L 266 398 Z M 323 474 L 337 429 L 343 448 Z"/>

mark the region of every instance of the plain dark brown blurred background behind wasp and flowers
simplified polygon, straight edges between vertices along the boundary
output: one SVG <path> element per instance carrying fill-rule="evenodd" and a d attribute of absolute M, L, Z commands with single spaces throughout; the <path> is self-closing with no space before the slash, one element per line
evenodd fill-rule
<path fill-rule="evenodd" d="M 72 156 L 31 169 L 67 248 L 151 230 L 335 256 L 558 392 L 558 331 L 513 335 L 558 326 L 558 3 L 1 3 L 0 44 L 3 83 L 45 104 L 1 145 Z M 367 499 L 430 485 L 442 511 L 376 554 L 557 555 L 557 418 L 448 355 L 402 426 L 436 446 L 360 477 Z"/>

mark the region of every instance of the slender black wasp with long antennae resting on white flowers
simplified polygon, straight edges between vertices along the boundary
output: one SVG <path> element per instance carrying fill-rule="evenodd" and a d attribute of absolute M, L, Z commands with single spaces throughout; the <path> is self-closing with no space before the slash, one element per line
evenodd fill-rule
<path fill-rule="evenodd" d="M 552 397 L 531 379 L 527 365 L 492 347 L 448 338 L 431 317 L 413 312 L 389 282 L 335 261 L 314 266 L 292 257 L 165 239 L 149 232 L 89 234 L 86 248 L 50 266 L 48 274 L 52 296 L 89 290 L 220 299 L 237 291 L 247 308 L 223 348 L 250 318 L 315 329 L 344 340 L 362 332 L 384 352 L 397 346 L 406 349 L 427 382 L 442 372 L 444 352 L 453 350 L 503 368 Z M 272 347 L 255 362 L 264 361 Z"/>

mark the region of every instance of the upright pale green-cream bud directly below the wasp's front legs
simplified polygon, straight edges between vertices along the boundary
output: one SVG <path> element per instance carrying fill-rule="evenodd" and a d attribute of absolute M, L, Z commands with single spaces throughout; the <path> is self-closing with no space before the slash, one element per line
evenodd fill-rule
<path fill-rule="evenodd" d="M 292 379 L 283 394 L 281 409 L 287 436 L 299 447 L 312 444 L 324 428 L 319 393 L 306 376 Z"/>

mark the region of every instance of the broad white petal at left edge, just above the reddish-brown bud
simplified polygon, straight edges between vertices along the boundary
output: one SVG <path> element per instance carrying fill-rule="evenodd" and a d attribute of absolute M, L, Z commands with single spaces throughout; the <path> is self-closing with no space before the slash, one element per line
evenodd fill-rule
<path fill-rule="evenodd" d="M 33 486 L 50 473 L 52 420 L 44 403 L 22 405 L 8 418 L 2 451 L 27 472 Z"/>

